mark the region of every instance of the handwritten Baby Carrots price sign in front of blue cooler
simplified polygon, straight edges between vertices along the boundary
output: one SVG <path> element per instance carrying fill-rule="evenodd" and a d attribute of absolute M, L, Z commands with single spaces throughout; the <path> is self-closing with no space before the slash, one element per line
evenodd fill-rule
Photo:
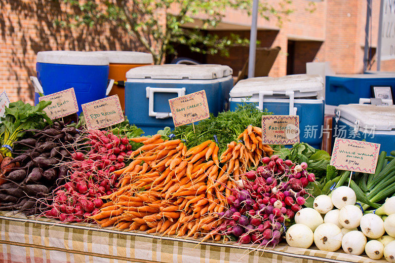
<path fill-rule="evenodd" d="M 174 126 L 181 126 L 210 117 L 204 90 L 169 100 Z"/>

